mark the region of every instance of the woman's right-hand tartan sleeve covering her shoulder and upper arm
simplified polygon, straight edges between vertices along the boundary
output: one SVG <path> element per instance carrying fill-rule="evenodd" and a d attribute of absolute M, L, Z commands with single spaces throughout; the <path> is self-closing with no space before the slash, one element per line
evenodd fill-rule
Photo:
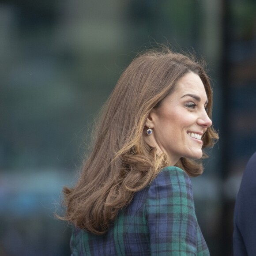
<path fill-rule="evenodd" d="M 162 169 L 151 183 L 145 208 L 151 253 L 209 255 L 196 219 L 191 181 L 182 169 Z"/>

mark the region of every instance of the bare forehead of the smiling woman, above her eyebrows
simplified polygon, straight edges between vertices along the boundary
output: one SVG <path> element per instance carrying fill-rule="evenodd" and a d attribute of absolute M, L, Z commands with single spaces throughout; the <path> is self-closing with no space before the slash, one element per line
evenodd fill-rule
<path fill-rule="evenodd" d="M 207 100 L 203 82 L 199 75 L 193 72 L 189 72 L 177 81 L 173 94 L 197 94 L 200 98 Z"/>

